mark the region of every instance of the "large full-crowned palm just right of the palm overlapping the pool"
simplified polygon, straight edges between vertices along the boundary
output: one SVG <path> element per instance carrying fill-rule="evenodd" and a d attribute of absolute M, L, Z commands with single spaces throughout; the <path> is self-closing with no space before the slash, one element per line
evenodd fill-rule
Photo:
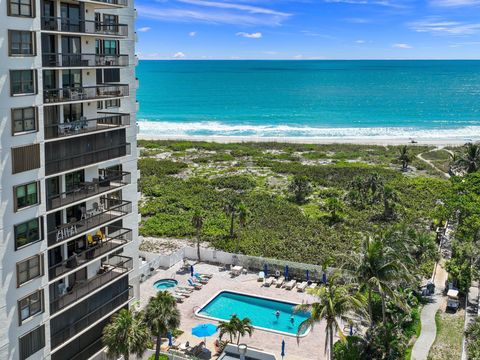
<path fill-rule="evenodd" d="M 395 298 L 392 281 L 399 276 L 400 266 L 393 253 L 393 249 L 386 246 L 380 237 L 373 239 L 367 237 L 360 259 L 357 262 L 356 277 L 360 284 L 360 289 L 366 290 L 368 294 L 368 315 L 372 328 L 374 325 L 372 293 L 374 291 L 378 292 L 382 298 L 384 326 L 387 324 L 386 296 Z"/>

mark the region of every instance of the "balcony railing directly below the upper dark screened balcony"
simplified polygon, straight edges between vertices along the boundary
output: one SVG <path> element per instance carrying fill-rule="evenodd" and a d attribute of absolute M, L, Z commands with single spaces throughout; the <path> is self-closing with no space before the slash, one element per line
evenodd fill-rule
<path fill-rule="evenodd" d="M 107 170 L 103 170 L 103 172 L 104 175 L 101 178 L 85 181 L 73 190 L 47 197 L 47 210 L 53 210 L 130 184 L 131 174 L 129 172 Z"/>

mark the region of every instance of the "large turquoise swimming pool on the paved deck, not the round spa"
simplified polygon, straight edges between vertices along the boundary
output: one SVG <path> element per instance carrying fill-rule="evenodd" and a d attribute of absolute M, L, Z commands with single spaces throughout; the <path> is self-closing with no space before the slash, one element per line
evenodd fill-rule
<path fill-rule="evenodd" d="M 297 304 L 265 297 L 221 291 L 197 310 L 196 315 L 222 321 L 230 320 L 232 315 L 237 315 L 240 319 L 248 317 L 255 328 L 297 336 L 298 326 L 309 314 L 295 313 L 295 305 Z M 280 311 L 278 318 L 277 311 Z M 305 330 L 300 336 L 306 336 L 309 331 Z"/>

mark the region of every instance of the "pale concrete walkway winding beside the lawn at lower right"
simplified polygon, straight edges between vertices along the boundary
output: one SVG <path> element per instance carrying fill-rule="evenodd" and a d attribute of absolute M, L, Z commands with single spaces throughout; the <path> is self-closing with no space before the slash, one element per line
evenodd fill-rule
<path fill-rule="evenodd" d="M 420 314 L 422 331 L 413 345 L 412 360 L 426 360 L 430 348 L 435 341 L 437 332 L 435 314 L 444 300 L 442 292 L 445 288 L 446 279 L 447 272 L 438 265 L 435 274 L 435 294 L 430 297 L 430 302 L 423 307 L 422 313 Z"/>

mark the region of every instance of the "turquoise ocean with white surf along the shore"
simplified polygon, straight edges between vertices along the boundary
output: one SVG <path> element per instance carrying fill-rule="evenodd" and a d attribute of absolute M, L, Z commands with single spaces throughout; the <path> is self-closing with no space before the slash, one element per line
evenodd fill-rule
<path fill-rule="evenodd" d="M 480 61 L 140 61 L 142 135 L 480 138 Z"/>

